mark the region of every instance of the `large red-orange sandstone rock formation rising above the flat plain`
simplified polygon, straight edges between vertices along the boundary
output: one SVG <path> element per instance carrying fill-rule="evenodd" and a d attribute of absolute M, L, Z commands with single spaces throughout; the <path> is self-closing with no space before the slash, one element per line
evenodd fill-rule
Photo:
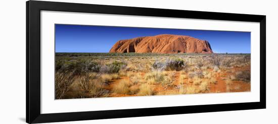
<path fill-rule="evenodd" d="M 186 35 L 160 34 L 119 40 L 109 53 L 213 53 L 206 40 Z"/>

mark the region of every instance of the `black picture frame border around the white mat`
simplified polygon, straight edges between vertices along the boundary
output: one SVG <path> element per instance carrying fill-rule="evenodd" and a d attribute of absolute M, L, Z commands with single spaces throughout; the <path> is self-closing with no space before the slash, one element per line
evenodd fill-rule
<path fill-rule="evenodd" d="M 260 23 L 260 102 L 122 110 L 40 113 L 40 11 L 120 14 Z M 266 108 L 266 16 L 201 11 L 121 7 L 59 2 L 26 2 L 26 122 L 58 122 Z"/>

